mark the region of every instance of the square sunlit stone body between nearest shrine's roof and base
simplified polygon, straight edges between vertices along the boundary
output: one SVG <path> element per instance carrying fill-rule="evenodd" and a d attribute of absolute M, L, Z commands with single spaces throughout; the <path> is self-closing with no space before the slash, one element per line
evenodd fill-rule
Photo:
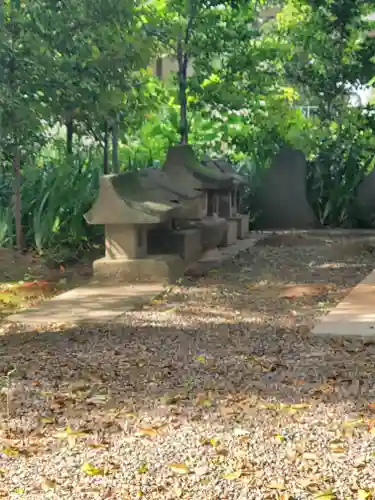
<path fill-rule="evenodd" d="M 147 256 L 147 229 L 142 225 L 105 226 L 107 259 L 144 259 Z"/>

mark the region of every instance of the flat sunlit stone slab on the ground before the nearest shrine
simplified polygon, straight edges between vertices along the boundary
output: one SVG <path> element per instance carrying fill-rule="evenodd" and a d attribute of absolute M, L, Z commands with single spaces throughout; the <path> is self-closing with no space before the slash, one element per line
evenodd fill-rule
<path fill-rule="evenodd" d="M 7 319 L 30 326 L 108 322 L 136 306 L 148 303 L 164 290 L 162 284 L 148 283 L 79 287 Z"/>

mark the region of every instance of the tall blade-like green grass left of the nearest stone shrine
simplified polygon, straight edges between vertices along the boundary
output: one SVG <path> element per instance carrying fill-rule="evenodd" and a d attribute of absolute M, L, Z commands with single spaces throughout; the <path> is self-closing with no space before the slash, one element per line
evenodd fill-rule
<path fill-rule="evenodd" d="M 102 229 L 86 224 L 84 214 L 96 198 L 100 156 L 84 151 L 67 157 L 56 142 L 22 166 L 22 224 L 25 245 L 63 261 L 100 241 Z M 0 186 L 0 246 L 14 243 L 11 179 Z"/>

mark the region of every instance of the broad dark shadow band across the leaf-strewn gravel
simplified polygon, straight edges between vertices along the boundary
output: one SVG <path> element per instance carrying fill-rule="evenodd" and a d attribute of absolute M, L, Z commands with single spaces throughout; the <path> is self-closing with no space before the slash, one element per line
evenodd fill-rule
<path fill-rule="evenodd" d="M 160 313 L 163 315 L 163 313 Z M 166 313 L 173 314 L 173 313 Z M 108 412 L 210 413 L 236 404 L 335 404 L 369 411 L 375 341 L 313 339 L 270 320 L 216 321 L 200 329 L 155 318 L 49 333 L 10 333 L 0 344 L 12 419 L 92 421 Z M 142 324 L 143 323 L 143 324 Z M 6 394 L 3 390 L 3 411 Z M 250 399 L 249 399 L 250 398 Z M 183 410 L 181 410 L 183 408 Z"/>

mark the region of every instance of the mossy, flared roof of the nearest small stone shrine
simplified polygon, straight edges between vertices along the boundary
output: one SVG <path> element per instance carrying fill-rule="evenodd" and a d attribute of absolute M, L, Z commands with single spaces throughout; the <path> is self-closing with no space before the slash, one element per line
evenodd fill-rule
<path fill-rule="evenodd" d="M 199 192 L 174 186 L 159 169 L 104 175 L 85 214 L 89 224 L 157 224 L 184 212 L 184 200 Z"/>

